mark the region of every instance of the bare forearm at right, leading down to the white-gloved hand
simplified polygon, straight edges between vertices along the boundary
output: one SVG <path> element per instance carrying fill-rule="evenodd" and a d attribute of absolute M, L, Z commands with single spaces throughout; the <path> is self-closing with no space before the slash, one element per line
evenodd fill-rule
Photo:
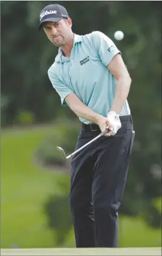
<path fill-rule="evenodd" d="M 128 97 L 129 89 L 131 86 L 131 78 L 121 78 L 117 80 L 114 101 L 112 102 L 111 111 L 120 113 L 123 104 Z"/>

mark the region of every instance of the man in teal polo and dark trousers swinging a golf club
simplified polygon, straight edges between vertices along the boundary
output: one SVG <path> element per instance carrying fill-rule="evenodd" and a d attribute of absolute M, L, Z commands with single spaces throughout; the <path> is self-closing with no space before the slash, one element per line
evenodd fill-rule
<path fill-rule="evenodd" d="M 102 32 L 80 36 L 71 27 L 61 5 L 48 5 L 40 12 L 39 29 L 59 47 L 48 76 L 62 106 L 68 105 L 82 122 L 76 149 L 109 128 L 71 161 L 76 246 L 117 247 L 118 208 L 134 139 L 126 100 L 131 78 L 108 36 Z"/>

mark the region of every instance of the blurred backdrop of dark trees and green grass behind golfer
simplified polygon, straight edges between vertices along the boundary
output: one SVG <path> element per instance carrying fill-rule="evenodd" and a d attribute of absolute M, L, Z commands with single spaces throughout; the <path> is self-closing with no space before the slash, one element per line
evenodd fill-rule
<path fill-rule="evenodd" d="M 132 78 L 135 141 L 120 208 L 120 246 L 159 246 L 160 1 L 1 1 L 2 247 L 75 246 L 70 163 L 56 146 L 72 152 L 80 122 L 60 106 L 48 80 L 58 49 L 37 32 L 40 10 L 52 3 L 67 8 L 74 33 L 100 30 L 121 50 Z M 115 41 L 117 30 L 125 33 L 123 41 Z"/>

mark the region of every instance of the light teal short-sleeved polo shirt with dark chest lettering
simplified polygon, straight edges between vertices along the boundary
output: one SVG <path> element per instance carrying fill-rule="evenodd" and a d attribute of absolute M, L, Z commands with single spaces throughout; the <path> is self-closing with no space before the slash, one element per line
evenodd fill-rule
<path fill-rule="evenodd" d="M 51 84 L 59 94 L 62 106 L 66 106 L 66 96 L 76 93 L 86 106 L 106 117 L 116 86 L 116 80 L 106 66 L 117 53 L 120 51 L 114 42 L 102 32 L 83 36 L 74 34 L 70 58 L 63 56 L 59 49 L 53 65 L 48 69 Z M 130 113 L 126 100 L 120 115 Z M 82 117 L 79 119 L 85 124 L 91 123 Z"/>

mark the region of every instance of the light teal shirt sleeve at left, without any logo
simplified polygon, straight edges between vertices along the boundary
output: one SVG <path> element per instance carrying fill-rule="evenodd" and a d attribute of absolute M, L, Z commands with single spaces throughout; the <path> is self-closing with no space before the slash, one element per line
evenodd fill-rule
<path fill-rule="evenodd" d="M 60 81 L 60 79 L 50 69 L 48 69 L 48 77 L 53 88 L 60 96 L 62 106 L 67 106 L 65 98 L 70 95 L 70 93 L 74 93 L 74 91 L 70 89 L 70 87 L 66 86 L 66 84 L 62 83 L 62 81 Z"/>

